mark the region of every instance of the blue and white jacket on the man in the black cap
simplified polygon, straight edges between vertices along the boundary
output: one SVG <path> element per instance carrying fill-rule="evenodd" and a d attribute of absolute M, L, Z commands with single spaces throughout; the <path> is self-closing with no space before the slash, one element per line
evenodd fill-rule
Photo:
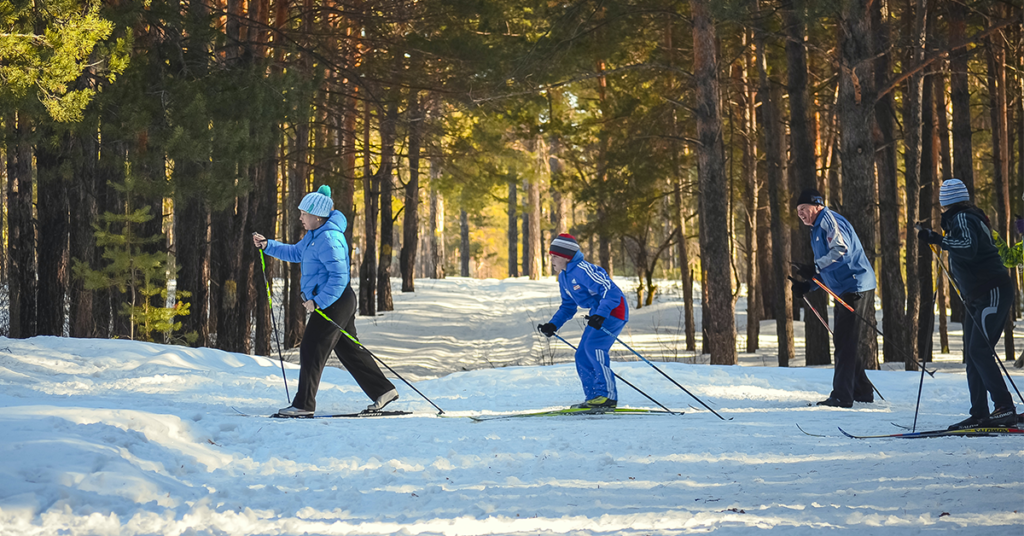
<path fill-rule="evenodd" d="M 874 270 L 857 233 L 845 217 L 828 207 L 821 208 L 811 228 L 811 251 L 821 282 L 833 292 L 842 295 L 874 288 Z M 811 290 L 817 288 L 815 285 Z"/>

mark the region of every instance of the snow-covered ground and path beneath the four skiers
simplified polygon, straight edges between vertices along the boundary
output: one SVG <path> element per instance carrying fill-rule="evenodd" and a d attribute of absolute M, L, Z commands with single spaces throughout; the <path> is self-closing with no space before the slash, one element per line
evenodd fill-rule
<path fill-rule="evenodd" d="M 392 408 L 413 415 L 242 416 L 231 407 L 287 405 L 275 359 L 0 338 L 0 534 L 1024 533 L 1021 438 L 842 437 L 837 425 L 910 425 L 921 375 L 872 371 L 886 402 L 808 406 L 827 396 L 833 371 L 771 366 L 771 322 L 744 366 L 677 349 L 678 289 L 634 312 L 623 339 L 668 360 L 657 366 L 732 420 L 693 409 L 622 346 L 618 375 L 685 415 L 465 418 L 582 399 L 571 351 L 532 330 L 557 305 L 556 285 L 421 280 L 413 294 L 395 289 L 395 312 L 356 321 L 368 346 L 447 418 L 397 381 Z M 563 334 L 575 342 L 583 322 L 571 324 Z M 950 337 L 958 344 L 958 331 Z M 943 372 L 925 378 L 919 429 L 968 409 L 958 346 L 940 360 Z M 288 367 L 294 393 L 298 369 Z M 625 384 L 620 393 L 621 406 L 652 407 Z M 323 412 L 369 402 L 335 368 L 317 401 Z"/>

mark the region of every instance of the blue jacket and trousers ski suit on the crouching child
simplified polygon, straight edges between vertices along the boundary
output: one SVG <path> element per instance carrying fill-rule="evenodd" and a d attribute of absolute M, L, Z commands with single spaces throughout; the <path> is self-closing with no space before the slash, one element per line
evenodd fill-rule
<path fill-rule="evenodd" d="M 562 304 L 551 318 L 556 328 L 569 321 L 579 307 L 590 310 L 590 315 L 604 317 L 603 328 L 611 332 L 587 326 L 575 353 L 577 373 L 583 382 L 587 400 L 607 397 L 618 400 L 615 390 L 615 375 L 611 372 L 608 351 L 622 333 L 630 312 L 626 296 L 601 266 L 587 262 L 583 252 L 577 251 L 565 270 L 558 275 L 558 291 Z"/>

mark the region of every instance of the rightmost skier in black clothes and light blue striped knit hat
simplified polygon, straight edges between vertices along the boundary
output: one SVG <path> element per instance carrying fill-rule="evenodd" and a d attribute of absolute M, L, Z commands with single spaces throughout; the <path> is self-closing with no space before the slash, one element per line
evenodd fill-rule
<path fill-rule="evenodd" d="M 971 416 L 949 429 L 976 426 L 1015 426 L 1014 400 L 995 362 L 999 340 L 1014 300 L 1013 282 L 1002 265 L 985 213 L 971 203 L 959 179 L 942 182 L 942 236 L 922 229 L 918 236 L 949 252 L 949 271 L 964 298 L 964 356 L 967 385 L 971 390 Z M 988 411 L 987 396 L 995 409 Z"/>

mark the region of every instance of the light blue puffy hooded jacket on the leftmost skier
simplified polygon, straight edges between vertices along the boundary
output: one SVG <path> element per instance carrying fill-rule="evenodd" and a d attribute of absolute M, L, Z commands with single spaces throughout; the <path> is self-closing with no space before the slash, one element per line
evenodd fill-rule
<path fill-rule="evenodd" d="M 284 244 L 267 240 L 264 253 L 288 262 L 302 263 L 299 283 L 306 299 L 319 308 L 327 308 L 341 297 L 348 287 L 349 260 L 345 229 L 348 220 L 337 210 L 332 210 L 327 221 L 313 231 L 307 231 L 297 244 Z"/>

